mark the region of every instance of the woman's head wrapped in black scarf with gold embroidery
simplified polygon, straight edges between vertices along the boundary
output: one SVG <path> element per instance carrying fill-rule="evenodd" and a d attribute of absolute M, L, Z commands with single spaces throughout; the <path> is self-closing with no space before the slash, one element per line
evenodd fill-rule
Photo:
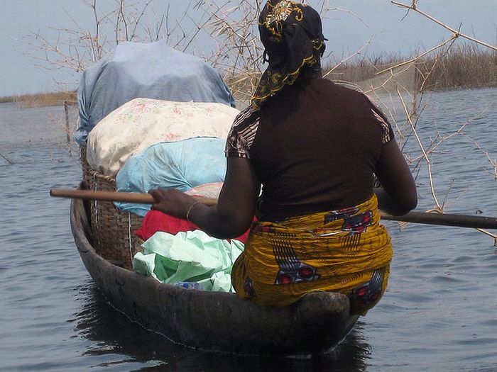
<path fill-rule="evenodd" d="M 256 108 L 293 84 L 302 69 L 320 71 L 326 40 L 320 14 L 296 1 L 269 0 L 258 24 L 269 66 L 252 97 Z"/>

